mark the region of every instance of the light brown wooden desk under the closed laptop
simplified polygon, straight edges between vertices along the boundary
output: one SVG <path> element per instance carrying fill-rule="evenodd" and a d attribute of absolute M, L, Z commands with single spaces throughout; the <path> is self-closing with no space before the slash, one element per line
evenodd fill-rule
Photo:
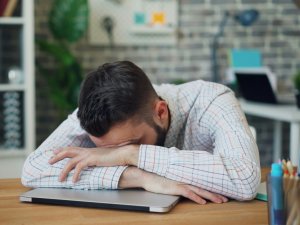
<path fill-rule="evenodd" d="M 267 170 L 262 171 L 265 178 Z M 264 180 L 264 179 L 263 179 Z M 266 202 L 230 201 L 225 204 L 197 205 L 181 200 L 167 214 L 132 211 L 78 208 L 20 203 L 19 195 L 29 190 L 20 184 L 20 179 L 0 180 L 1 225 L 71 225 L 71 224 L 268 224 Z"/>

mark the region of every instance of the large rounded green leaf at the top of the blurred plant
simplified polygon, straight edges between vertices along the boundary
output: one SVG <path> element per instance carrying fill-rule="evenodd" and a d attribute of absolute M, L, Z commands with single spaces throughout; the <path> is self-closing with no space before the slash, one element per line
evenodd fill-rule
<path fill-rule="evenodd" d="M 88 27 L 87 0 L 55 0 L 49 15 L 49 28 L 57 39 L 75 42 Z"/>

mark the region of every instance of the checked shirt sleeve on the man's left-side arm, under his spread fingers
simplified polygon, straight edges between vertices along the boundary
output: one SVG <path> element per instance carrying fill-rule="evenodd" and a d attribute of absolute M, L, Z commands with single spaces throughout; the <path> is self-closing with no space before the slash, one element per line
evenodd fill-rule
<path fill-rule="evenodd" d="M 87 133 L 81 129 L 75 111 L 70 115 L 25 161 L 22 184 L 27 187 L 64 187 L 74 189 L 116 189 L 125 166 L 89 167 L 81 172 L 79 182 L 72 182 L 71 171 L 63 182 L 59 181 L 62 169 L 70 159 L 63 159 L 53 165 L 49 159 L 53 151 L 61 147 L 95 147 Z"/>

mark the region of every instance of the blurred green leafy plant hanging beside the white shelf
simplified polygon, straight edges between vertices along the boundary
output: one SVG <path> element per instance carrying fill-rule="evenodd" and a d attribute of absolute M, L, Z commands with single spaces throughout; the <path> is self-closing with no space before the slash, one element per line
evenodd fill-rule
<path fill-rule="evenodd" d="M 87 0 L 55 0 L 48 17 L 53 40 L 36 41 L 39 49 L 56 62 L 51 69 L 37 62 L 37 68 L 45 76 L 50 89 L 49 96 L 61 114 L 68 113 L 77 105 L 82 68 L 70 51 L 70 45 L 86 32 L 88 14 Z"/>

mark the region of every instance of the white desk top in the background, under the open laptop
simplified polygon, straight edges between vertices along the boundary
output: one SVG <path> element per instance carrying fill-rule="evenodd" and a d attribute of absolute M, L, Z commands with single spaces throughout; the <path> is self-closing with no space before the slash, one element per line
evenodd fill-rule
<path fill-rule="evenodd" d="M 244 99 L 239 99 L 239 101 L 246 114 L 286 122 L 300 122 L 300 110 L 296 105 L 273 105 Z"/>

